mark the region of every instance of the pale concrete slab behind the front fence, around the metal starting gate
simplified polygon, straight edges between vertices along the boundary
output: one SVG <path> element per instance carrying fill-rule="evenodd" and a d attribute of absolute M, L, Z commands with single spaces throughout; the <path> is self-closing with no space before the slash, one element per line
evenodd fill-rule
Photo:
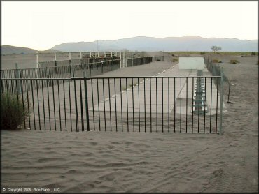
<path fill-rule="evenodd" d="M 208 70 L 205 68 L 204 76 L 209 76 Z M 165 76 L 164 78 L 160 76 Z M 186 78 L 167 78 L 166 76 L 186 76 Z M 179 70 L 179 64 L 174 67 L 164 70 L 158 75 L 154 75 L 151 79 L 146 79 L 143 82 L 133 82 L 133 88 L 128 87 L 121 94 L 106 98 L 105 102 L 99 103 L 99 110 L 112 112 L 158 112 L 167 113 L 174 110 L 176 105 L 176 113 L 192 114 L 193 104 L 193 85 L 197 78 L 191 76 L 197 76 L 197 70 Z M 128 80 L 128 86 L 132 84 L 131 80 Z M 220 88 L 219 88 L 220 89 Z M 212 96 L 211 96 L 212 90 Z M 146 92 L 145 92 L 146 91 Z M 206 94 L 207 104 L 209 107 L 209 113 L 216 114 L 217 107 L 217 89 L 213 83 L 211 87 L 211 79 L 206 79 Z M 123 102 L 121 103 L 121 99 Z M 218 92 L 218 112 L 220 107 L 221 96 Z M 105 105 L 104 105 L 105 103 Z M 120 105 L 123 105 L 122 107 Z M 90 108 L 92 110 L 92 108 Z M 98 105 L 94 106 L 94 110 L 98 110 Z M 225 104 L 223 103 L 223 110 Z"/>

